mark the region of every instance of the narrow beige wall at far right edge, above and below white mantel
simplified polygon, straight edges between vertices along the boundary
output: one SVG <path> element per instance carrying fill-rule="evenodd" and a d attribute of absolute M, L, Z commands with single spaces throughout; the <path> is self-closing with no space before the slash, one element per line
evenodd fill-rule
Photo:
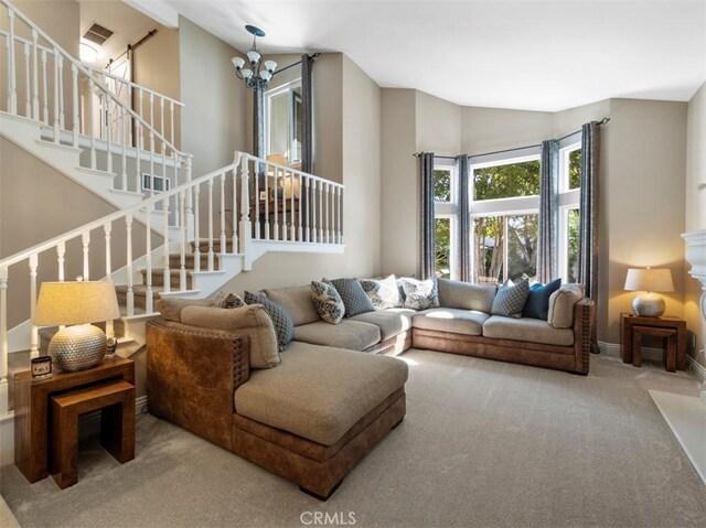
<path fill-rule="evenodd" d="M 706 183 L 706 83 L 688 104 L 686 139 L 686 184 L 684 204 L 684 230 L 706 229 L 706 190 L 698 191 L 698 184 Z M 696 334 L 696 347 L 692 353 L 706 367 L 706 322 L 702 319 L 698 301 L 700 283 L 688 274 L 688 263 L 684 274 L 684 317 L 691 332 Z"/>

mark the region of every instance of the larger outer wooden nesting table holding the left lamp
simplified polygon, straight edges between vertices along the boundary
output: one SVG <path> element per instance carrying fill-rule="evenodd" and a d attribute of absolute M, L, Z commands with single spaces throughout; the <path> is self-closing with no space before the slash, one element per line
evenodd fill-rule
<path fill-rule="evenodd" d="M 125 380 L 135 385 L 135 363 L 116 357 L 87 370 L 54 373 L 32 379 L 29 370 L 14 376 L 14 464 L 31 483 L 49 476 L 50 400 L 62 392 L 100 381 Z"/>

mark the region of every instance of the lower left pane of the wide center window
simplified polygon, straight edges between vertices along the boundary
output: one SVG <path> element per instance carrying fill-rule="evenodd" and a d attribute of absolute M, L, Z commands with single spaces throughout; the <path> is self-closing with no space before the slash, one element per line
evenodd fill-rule
<path fill-rule="evenodd" d="M 477 284 L 496 284 L 503 277 L 504 216 L 473 218 L 473 278 Z"/>

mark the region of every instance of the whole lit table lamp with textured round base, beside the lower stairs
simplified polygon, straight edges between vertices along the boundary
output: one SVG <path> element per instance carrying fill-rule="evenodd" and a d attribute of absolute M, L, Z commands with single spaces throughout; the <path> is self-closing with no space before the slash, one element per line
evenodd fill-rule
<path fill-rule="evenodd" d="M 98 365 L 106 354 L 106 334 L 90 323 L 118 317 L 120 309 L 113 282 L 43 282 L 34 324 L 67 325 L 52 337 L 49 355 L 57 368 L 75 371 Z"/>

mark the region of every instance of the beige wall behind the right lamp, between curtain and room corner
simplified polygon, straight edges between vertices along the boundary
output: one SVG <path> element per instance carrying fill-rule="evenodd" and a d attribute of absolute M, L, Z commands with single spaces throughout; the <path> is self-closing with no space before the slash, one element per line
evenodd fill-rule
<path fill-rule="evenodd" d="M 612 99 L 606 127 L 608 168 L 601 180 L 601 297 L 599 338 L 620 341 L 620 312 L 634 297 L 623 290 L 632 267 L 670 268 L 674 293 L 666 313 L 684 314 L 684 202 L 686 110 L 684 103 Z M 606 277 L 607 273 L 607 277 Z M 605 301 L 603 301 L 605 302 Z"/>

